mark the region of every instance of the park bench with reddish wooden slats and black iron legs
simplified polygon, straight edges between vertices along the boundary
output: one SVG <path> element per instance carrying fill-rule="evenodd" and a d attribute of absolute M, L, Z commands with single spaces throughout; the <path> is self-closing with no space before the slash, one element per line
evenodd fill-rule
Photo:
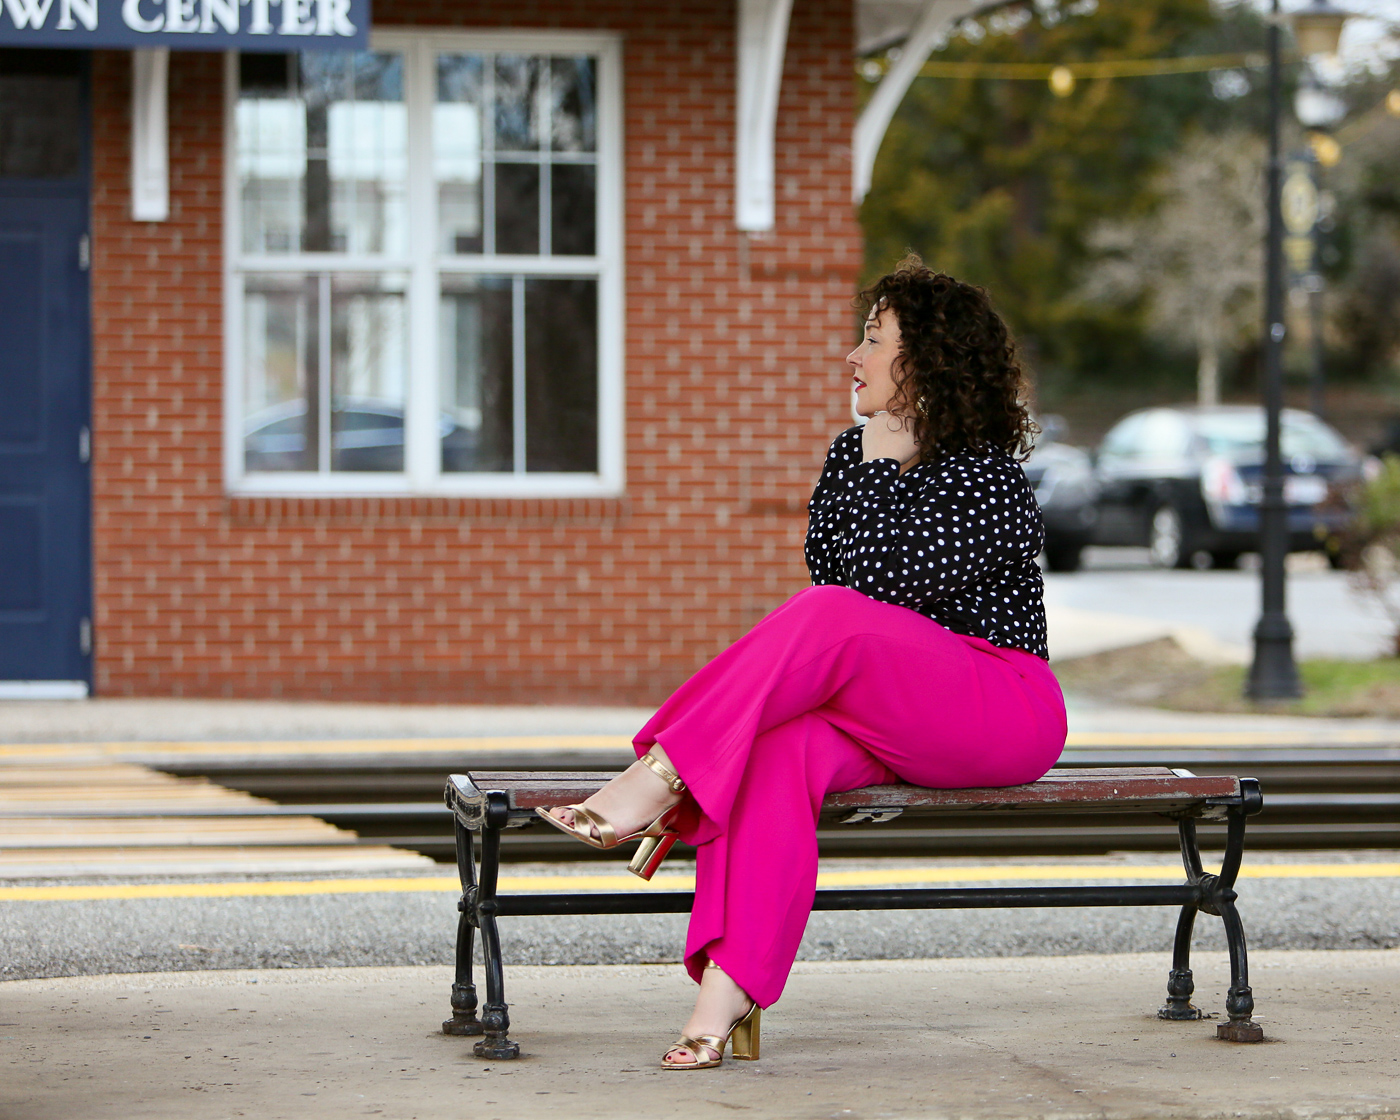
<path fill-rule="evenodd" d="M 482 1035 L 477 1057 L 503 1060 L 519 1054 L 508 1037 L 505 974 L 501 962 L 498 920 L 524 914 L 678 914 L 687 913 L 692 892 L 629 890 L 581 893 L 497 895 L 501 833 L 533 825 L 536 806 L 582 801 L 602 787 L 605 773 L 477 771 L 452 774 L 447 804 L 456 829 L 456 865 L 462 881 L 458 902 L 456 976 L 452 984 L 452 1018 L 442 1023 L 448 1035 Z M 1156 815 L 1176 822 L 1186 882 L 1123 886 L 980 886 L 823 889 L 815 910 L 944 910 L 1008 906 L 1180 906 L 1172 970 L 1166 983 L 1162 1019 L 1208 1018 L 1191 1004 L 1191 930 L 1197 913 L 1214 914 L 1225 927 L 1229 945 L 1231 986 L 1225 998 L 1228 1019 L 1217 1036 L 1228 1042 L 1260 1042 L 1263 1029 L 1253 1021 L 1254 997 L 1249 987 L 1245 930 L 1235 909 L 1235 878 L 1245 853 L 1245 820 L 1263 808 L 1254 778 L 1198 777 L 1190 770 L 1163 766 L 1056 769 L 1029 785 L 988 790 L 927 790 L 918 785 L 871 785 L 832 794 L 822 802 L 822 826 L 879 827 L 899 819 L 902 827 L 938 829 L 941 822 L 967 815 L 1033 818 L 1037 823 L 1072 825 L 1086 813 Z M 1002 816 L 1005 820 L 1007 818 Z M 1224 820 L 1225 854 L 1218 875 L 1201 865 L 1196 823 Z M 480 853 L 476 837 L 480 834 Z M 477 931 L 486 972 L 486 1004 L 477 1016 L 472 980 L 472 949 Z"/>

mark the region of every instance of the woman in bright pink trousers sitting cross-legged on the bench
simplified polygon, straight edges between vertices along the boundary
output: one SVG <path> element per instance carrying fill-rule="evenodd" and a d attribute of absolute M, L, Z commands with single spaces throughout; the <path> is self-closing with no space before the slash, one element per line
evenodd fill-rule
<path fill-rule="evenodd" d="M 836 437 L 809 505 L 813 587 L 692 676 L 637 734 L 638 762 L 540 811 L 594 847 L 641 837 L 644 878 L 696 846 L 694 1012 L 671 1070 L 756 1058 L 816 889 L 827 792 L 1035 781 L 1060 756 L 1046 664 L 1040 511 L 1016 455 L 1025 381 L 986 293 L 909 258 L 861 294 L 846 358 L 868 417 Z"/>

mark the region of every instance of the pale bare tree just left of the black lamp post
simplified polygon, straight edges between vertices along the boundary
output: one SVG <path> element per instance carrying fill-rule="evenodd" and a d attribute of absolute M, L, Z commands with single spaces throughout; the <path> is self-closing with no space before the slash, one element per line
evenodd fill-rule
<path fill-rule="evenodd" d="M 1085 297 L 1145 300 L 1159 337 L 1189 337 L 1201 405 L 1219 403 L 1221 350 L 1259 329 L 1264 161 L 1250 133 L 1194 133 L 1158 175 L 1152 213 L 1091 235 L 1102 258 Z"/>

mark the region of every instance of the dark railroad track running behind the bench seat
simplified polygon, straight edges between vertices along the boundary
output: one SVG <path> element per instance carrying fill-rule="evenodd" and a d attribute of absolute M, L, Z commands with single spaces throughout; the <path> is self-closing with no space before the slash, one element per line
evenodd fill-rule
<path fill-rule="evenodd" d="M 617 770 L 624 750 L 559 750 L 528 755 L 508 749 L 473 752 L 455 760 L 424 755 L 295 757 L 200 757 L 162 760 L 157 769 L 207 777 L 274 805 L 200 809 L 195 815 L 319 818 L 353 829 L 360 841 L 409 848 L 440 861 L 452 858 L 452 818 L 442 785 L 452 770 Z M 1247 774 L 1264 790 L 1264 812 L 1250 822 L 1252 848 L 1400 848 L 1400 743 L 1249 746 L 1096 746 L 1065 750 L 1061 766 L 1176 766 L 1197 774 Z M 1203 843 L 1215 832 L 1203 825 Z M 1009 815 L 988 827 L 986 818 L 949 816 L 939 833 L 885 829 L 819 833 L 827 855 L 1093 855 L 1109 851 L 1176 848 L 1170 822 L 1095 818 L 1082 829 L 1043 827 L 1032 815 Z M 507 860 L 610 858 L 546 829 L 512 830 Z"/>

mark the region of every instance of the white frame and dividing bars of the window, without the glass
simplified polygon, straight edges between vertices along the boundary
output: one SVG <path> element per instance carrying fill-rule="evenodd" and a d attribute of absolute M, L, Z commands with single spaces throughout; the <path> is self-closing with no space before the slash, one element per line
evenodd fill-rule
<path fill-rule="evenodd" d="M 242 252 L 237 155 L 238 52 L 224 59 L 224 489 L 273 497 L 610 497 L 624 489 L 623 431 L 623 134 L 622 42 L 599 32 L 463 31 L 384 28 L 370 49 L 402 52 L 409 122 L 406 256 Z M 433 55 L 437 52 L 594 55 L 598 59 L 598 188 L 595 256 L 445 258 L 438 252 L 433 167 Z M 414 174 L 414 171 L 420 174 Z M 421 174 L 421 172 L 427 174 Z M 244 470 L 244 273 L 402 272 L 409 276 L 409 382 L 405 400 L 403 472 Z M 598 279 L 598 472 L 440 470 L 435 437 L 438 302 L 444 272 Z"/>

